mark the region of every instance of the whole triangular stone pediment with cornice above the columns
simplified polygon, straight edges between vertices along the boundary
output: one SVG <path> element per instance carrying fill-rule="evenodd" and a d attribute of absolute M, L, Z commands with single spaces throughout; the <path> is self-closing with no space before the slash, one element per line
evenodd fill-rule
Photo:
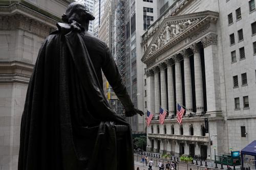
<path fill-rule="evenodd" d="M 164 18 L 141 61 L 146 62 L 188 36 L 195 36 L 197 30 L 216 23 L 218 15 L 216 12 L 204 11 Z"/>

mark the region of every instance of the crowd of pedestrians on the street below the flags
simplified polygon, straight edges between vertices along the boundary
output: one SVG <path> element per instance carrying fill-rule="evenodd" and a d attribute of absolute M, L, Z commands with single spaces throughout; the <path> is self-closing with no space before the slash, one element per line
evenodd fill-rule
<path fill-rule="evenodd" d="M 152 170 L 152 166 L 154 165 L 154 161 L 152 159 L 149 160 L 149 158 L 147 156 L 142 156 L 141 163 L 143 164 L 143 166 L 144 166 L 144 163 L 146 166 L 148 164 L 148 170 Z M 176 163 L 174 163 L 174 161 L 172 161 L 172 163 L 170 163 L 170 161 L 168 161 L 164 165 L 163 161 L 159 160 L 157 165 L 159 167 L 159 170 L 163 170 L 163 169 L 166 169 L 166 170 L 174 170 L 175 169 L 176 170 Z M 137 170 L 140 170 L 140 168 L 137 167 Z"/>

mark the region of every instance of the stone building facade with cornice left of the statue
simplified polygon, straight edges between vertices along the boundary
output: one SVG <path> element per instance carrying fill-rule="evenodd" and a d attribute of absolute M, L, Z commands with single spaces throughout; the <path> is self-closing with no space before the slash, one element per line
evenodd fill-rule
<path fill-rule="evenodd" d="M 17 169 L 20 121 L 39 48 L 72 1 L 0 2 L 0 169 Z"/>

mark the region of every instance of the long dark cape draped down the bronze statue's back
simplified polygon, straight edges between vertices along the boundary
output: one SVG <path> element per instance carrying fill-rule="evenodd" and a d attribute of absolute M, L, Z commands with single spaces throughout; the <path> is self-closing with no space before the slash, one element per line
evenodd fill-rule
<path fill-rule="evenodd" d="M 28 86 L 18 170 L 134 169 L 131 130 L 110 110 L 81 33 L 58 23 L 42 44 Z M 77 124 L 79 114 L 90 124 Z M 75 117 L 77 116 L 77 117 Z M 127 125 L 117 152 L 116 125 Z"/>

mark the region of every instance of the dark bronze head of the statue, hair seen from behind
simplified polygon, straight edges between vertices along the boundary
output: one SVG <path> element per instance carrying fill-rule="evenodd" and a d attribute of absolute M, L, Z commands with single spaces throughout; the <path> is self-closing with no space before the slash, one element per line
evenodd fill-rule
<path fill-rule="evenodd" d="M 74 2 L 68 6 L 66 13 L 62 15 L 61 19 L 66 23 L 75 20 L 78 23 L 83 24 L 89 23 L 89 21 L 94 20 L 95 17 L 89 11 L 89 8 L 85 4 Z"/>

